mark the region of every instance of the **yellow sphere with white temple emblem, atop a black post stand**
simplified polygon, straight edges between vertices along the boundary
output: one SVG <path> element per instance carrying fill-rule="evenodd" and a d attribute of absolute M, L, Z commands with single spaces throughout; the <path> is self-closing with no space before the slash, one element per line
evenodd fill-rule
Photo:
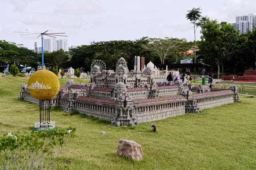
<path fill-rule="evenodd" d="M 60 81 L 52 72 L 45 69 L 36 71 L 29 77 L 29 93 L 39 100 L 49 100 L 58 94 Z"/>

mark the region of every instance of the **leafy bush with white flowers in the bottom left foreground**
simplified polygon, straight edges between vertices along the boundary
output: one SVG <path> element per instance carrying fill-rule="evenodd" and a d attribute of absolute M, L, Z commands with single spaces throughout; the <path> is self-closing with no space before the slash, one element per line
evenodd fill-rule
<path fill-rule="evenodd" d="M 48 170 L 74 137 L 75 128 L 35 131 L 26 135 L 7 133 L 0 137 L 0 169 Z"/>

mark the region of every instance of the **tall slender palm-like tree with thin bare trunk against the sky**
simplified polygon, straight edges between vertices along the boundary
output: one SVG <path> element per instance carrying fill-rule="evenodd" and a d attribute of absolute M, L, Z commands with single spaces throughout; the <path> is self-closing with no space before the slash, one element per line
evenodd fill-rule
<path fill-rule="evenodd" d="M 196 31 L 196 21 L 199 20 L 201 18 L 201 9 L 200 8 L 193 8 L 192 10 L 188 11 L 189 13 L 186 14 L 186 19 L 190 20 L 191 23 L 193 23 L 194 25 L 194 35 L 195 35 L 195 31 Z M 196 49 L 196 40 L 195 40 L 195 48 Z M 196 55 L 195 55 L 196 56 Z"/>

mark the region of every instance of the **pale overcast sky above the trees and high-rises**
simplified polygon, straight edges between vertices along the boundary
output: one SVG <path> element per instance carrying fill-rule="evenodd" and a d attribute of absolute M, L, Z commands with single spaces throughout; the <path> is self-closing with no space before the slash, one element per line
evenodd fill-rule
<path fill-rule="evenodd" d="M 0 40 L 30 49 L 34 42 L 41 46 L 40 37 L 15 33 L 28 29 L 65 32 L 69 47 L 144 36 L 192 41 L 193 27 L 185 15 L 193 7 L 201 7 L 211 19 L 233 23 L 236 15 L 256 14 L 255 6 L 256 0 L 0 0 Z M 196 36 L 199 40 L 200 30 Z"/>

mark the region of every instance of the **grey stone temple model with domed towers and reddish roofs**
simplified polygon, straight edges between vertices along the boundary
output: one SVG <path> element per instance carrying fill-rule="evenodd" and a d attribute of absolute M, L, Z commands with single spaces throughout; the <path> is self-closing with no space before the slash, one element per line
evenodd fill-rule
<path fill-rule="evenodd" d="M 114 126 L 133 126 L 240 102 L 236 86 L 225 90 L 210 89 L 208 85 L 195 88 L 181 81 L 154 82 L 151 68 L 146 67 L 143 73 L 140 70 L 128 72 L 124 58 L 116 63 L 115 72 L 100 71 L 94 66 L 90 73 L 91 81 L 87 84 L 75 84 L 73 79 L 68 79 L 65 87 L 60 87 L 50 100 L 50 106 L 108 120 Z M 25 84 L 21 85 L 19 99 L 39 103 Z"/>

